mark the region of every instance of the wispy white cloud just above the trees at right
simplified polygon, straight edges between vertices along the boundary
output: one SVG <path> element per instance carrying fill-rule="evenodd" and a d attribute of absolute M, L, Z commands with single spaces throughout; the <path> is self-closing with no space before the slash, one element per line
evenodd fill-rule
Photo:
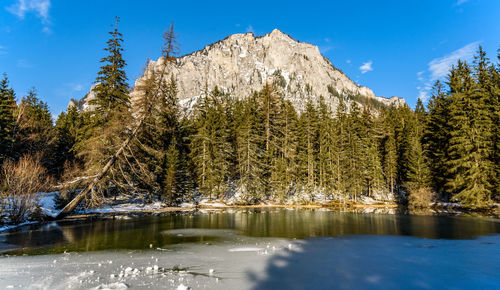
<path fill-rule="evenodd" d="M 420 83 L 417 86 L 419 99 L 426 102 L 430 97 L 432 83 L 445 78 L 451 66 L 456 64 L 459 59 L 470 62 L 478 45 L 479 41 L 471 42 L 445 56 L 431 60 L 426 71 L 417 72 L 417 80 Z"/>

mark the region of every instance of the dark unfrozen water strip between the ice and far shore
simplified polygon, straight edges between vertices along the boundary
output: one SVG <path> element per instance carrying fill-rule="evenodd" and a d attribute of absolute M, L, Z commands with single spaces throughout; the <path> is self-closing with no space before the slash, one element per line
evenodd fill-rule
<path fill-rule="evenodd" d="M 198 229 L 182 231 L 179 229 Z M 206 229 L 210 231 L 200 231 Z M 213 231 L 227 230 L 227 231 Z M 10 255 L 116 249 L 150 249 L 182 243 L 216 243 L 251 237 L 305 239 L 341 235 L 392 235 L 428 239 L 475 239 L 500 233 L 500 220 L 459 216 L 342 213 L 324 210 L 251 209 L 213 213 L 116 217 L 53 222 L 0 234 Z M 216 234 L 214 234 L 216 233 Z M 8 250 L 6 250 L 8 249 Z M 499 257 L 500 258 L 500 257 Z"/>

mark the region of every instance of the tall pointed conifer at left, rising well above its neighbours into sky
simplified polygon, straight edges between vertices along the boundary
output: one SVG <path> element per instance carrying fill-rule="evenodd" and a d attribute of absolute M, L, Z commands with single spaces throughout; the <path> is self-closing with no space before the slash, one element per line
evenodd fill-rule
<path fill-rule="evenodd" d="M 116 160 L 112 162 L 113 166 L 107 170 L 107 174 L 92 188 L 91 195 L 87 197 L 88 206 L 99 205 L 103 194 L 116 197 L 120 192 L 130 192 L 137 186 L 134 175 L 139 174 L 129 166 L 130 159 L 135 155 L 130 146 L 120 150 L 123 142 L 133 137 L 132 128 L 138 126 L 134 126 L 134 119 L 129 111 L 130 97 L 124 70 L 126 62 L 122 57 L 123 39 L 118 31 L 118 24 L 117 17 L 104 49 L 108 55 L 101 59 L 103 66 L 95 81 L 96 97 L 89 101 L 92 109 L 82 114 L 85 125 L 80 130 L 81 138 L 75 146 L 77 157 L 85 162 L 87 174 L 96 174 L 110 160 Z M 116 152 L 123 154 L 116 158 Z"/>

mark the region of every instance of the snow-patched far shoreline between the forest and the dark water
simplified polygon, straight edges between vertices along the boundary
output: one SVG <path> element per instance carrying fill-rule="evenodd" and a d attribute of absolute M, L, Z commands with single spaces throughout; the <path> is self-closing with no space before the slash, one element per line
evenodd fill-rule
<path fill-rule="evenodd" d="M 10 231 L 19 227 L 37 224 L 40 221 L 51 219 L 57 216 L 59 209 L 56 208 L 58 192 L 48 192 L 38 194 L 38 206 L 40 209 L 41 219 L 28 219 L 20 224 L 6 224 L 0 226 L 0 232 Z M 275 200 L 267 200 L 258 204 L 245 205 L 241 195 L 234 194 L 226 197 L 223 200 L 209 199 L 207 197 L 198 196 L 191 201 L 185 201 L 178 206 L 168 206 L 161 201 L 147 203 L 138 197 L 121 197 L 115 200 L 114 198 L 106 199 L 105 203 L 98 208 L 77 208 L 72 216 L 89 216 L 89 215 L 114 215 L 114 214 L 161 214 L 166 212 L 176 211 L 210 211 L 210 210 L 227 210 L 231 208 L 316 208 L 323 210 L 336 211 L 352 211 L 361 213 L 381 213 L 381 214 L 396 214 L 398 213 L 398 205 L 392 200 L 376 200 L 371 197 L 362 197 L 357 203 L 352 201 L 342 200 L 340 197 L 327 197 L 324 194 L 296 194 L 286 203 L 279 203 Z M 418 214 L 462 214 L 464 211 L 457 203 L 438 202 L 429 205 L 429 209 L 424 209 Z M 410 212 L 412 213 L 412 212 Z M 45 218 L 43 218 L 45 217 Z"/>

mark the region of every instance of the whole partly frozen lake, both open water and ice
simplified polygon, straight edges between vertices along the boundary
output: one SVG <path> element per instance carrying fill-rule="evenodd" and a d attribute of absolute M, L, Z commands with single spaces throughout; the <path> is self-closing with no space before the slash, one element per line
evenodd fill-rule
<path fill-rule="evenodd" d="M 0 234 L 0 288 L 500 288 L 500 220 L 235 210 Z"/>

